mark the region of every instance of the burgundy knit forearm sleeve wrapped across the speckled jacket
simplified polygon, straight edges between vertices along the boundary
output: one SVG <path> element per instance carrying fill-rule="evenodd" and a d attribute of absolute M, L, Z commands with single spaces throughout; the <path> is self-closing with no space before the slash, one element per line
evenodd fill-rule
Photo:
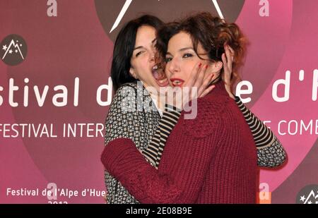
<path fill-rule="evenodd" d="M 129 139 L 110 142 L 102 152 L 102 163 L 141 203 L 172 203 L 182 198 L 182 189 L 148 164 Z"/>

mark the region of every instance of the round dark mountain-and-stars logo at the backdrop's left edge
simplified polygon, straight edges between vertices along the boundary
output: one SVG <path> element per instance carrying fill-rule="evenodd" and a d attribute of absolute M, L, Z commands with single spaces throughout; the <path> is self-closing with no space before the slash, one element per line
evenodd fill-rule
<path fill-rule="evenodd" d="M 27 44 L 20 35 L 8 35 L 0 44 L 0 58 L 9 66 L 16 66 L 24 61 L 27 52 Z"/>

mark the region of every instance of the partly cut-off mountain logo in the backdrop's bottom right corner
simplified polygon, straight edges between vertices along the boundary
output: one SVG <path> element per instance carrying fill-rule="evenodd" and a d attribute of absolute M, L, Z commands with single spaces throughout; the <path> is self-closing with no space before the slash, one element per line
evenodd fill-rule
<path fill-rule="evenodd" d="M 309 185 L 302 188 L 297 195 L 296 203 L 318 205 L 318 185 Z"/>

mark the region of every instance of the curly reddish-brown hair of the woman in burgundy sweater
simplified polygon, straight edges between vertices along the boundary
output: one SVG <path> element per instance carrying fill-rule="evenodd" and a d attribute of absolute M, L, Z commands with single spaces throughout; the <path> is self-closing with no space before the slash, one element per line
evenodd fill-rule
<path fill-rule="evenodd" d="M 179 32 L 187 32 L 197 53 L 200 43 L 208 54 L 210 61 L 222 61 L 222 54 L 225 53 L 224 45 L 228 44 L 235 51 L 232 66 L 231 84 L 240 79 L 237 73 L 242 66 L 245 56 L 247 39 L 235 23 L 227 23 L 225 20 L 212 16 L 211 13 L 201 12 L 188 16 L 179 21 L 167 23 L 157 32 L 158 63 L 164 67 L 167 44 L 170 38 Z M 223 74 L 223 70 L 220 76 Z"/>

